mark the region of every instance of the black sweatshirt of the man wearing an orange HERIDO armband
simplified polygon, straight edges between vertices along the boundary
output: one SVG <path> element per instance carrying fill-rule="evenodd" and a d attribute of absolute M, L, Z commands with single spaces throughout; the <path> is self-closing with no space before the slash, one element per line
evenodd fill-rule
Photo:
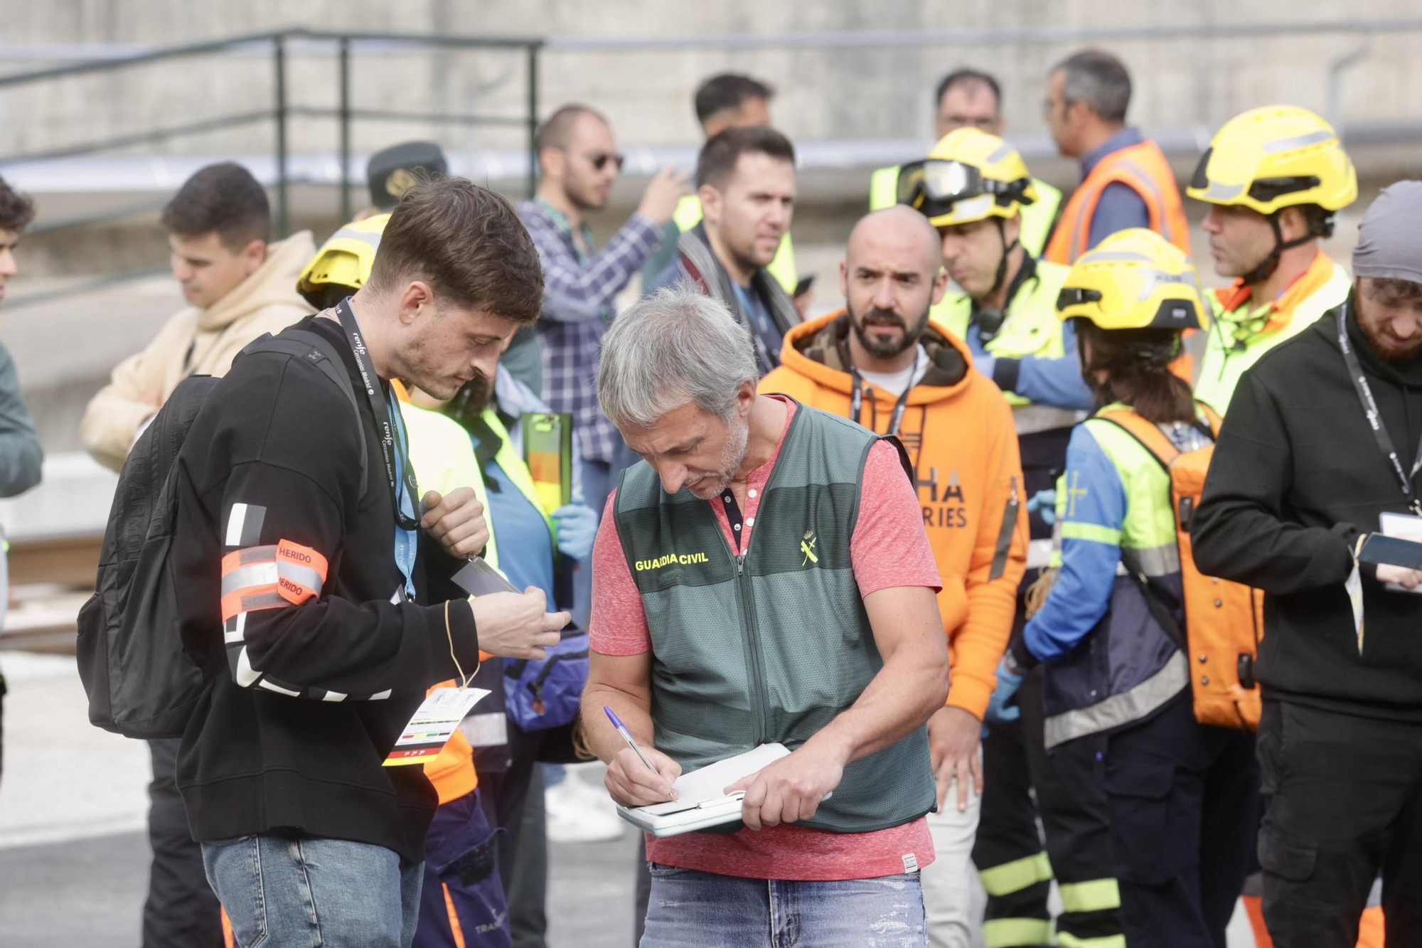
<path fill-rule="evenodd" d="M 404 584 L 395 517 L 356 359 L 337 323 L 311 317 L 297 327 L 333 339 L 357 386 L 367 485 L 356 416 L 319 367 L 242 356 L 208 396 L 178 455 L 178 606 L 183 642 L 210 672 L 182 737 L 178 787 L 199 841 L 294 828 L 417 861 L 434 789 L 418 764 L 381 762 L 425 689 L 455 676 L 444 609 L 424 604 L 461 599 L 449 618 L 465 669 L 478 665 L 474 616 L 442 582 L 458 564 L 424 537 L 418 604 L 392 602 Z M 247 505 L 242 517 L 237 504 Z M 220 582 L 235 575 L 232 558 L 282 541 L 327 559 L 320 595 L 243 599 L 240 628 L 237 616 L 225 621 Z"/>

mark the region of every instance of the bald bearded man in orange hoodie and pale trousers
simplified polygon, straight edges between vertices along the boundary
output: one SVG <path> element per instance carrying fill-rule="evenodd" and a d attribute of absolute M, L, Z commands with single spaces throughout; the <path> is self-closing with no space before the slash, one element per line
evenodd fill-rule
<path fill-rule="evenodd" d="M 947 275 L 939 235 L 921 214 L 900 205 L 862 218 L 839 285 L 845 309 L 792 329 L 781 367 L 761 391 L 894 434 L 909 451 L 943 576 L 939 612 L 951 656 L 947 703 L 929 720 L 937 860 L 923 873 L 923 895 L 931 944 L 967 945 L 983 794 L 978 743 L 1027 562 L 1012 410 L 973 369 L 963 340 L 929 317 Z"/>

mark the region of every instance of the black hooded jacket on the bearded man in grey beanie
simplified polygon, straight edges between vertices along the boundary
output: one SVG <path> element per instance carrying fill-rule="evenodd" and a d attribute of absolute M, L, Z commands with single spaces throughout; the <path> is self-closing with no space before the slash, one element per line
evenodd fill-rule
<path fill-rule="evenodd" d="M 1344 589 L 1358 535 L 1408 504 L 1349 381 L 1337 313 L 1240 381 L 1190 531 L 1194 559 L 1206 575 L 1267 594 L 1266 697 L 1422 722 L 1422 596 L 1388 592 L 1364 567 L 1359 652 Z M 1348 333 L 1408 468 L 1422 438 L 1422 357 L 1385 363 L 1352 317 Z M 1422 477 L 1412 487 L 1422 490 Z"/>

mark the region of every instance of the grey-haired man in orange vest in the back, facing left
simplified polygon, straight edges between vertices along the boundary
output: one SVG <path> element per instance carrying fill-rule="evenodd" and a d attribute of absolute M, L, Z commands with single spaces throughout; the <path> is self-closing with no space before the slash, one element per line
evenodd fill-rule
<path fill-rule="evenodd" d="M 1126 228 L 1150 228 L 1190 252 L 1175 172 L 1159 145 L 1126 125 L 1129 105 L 1130 74 L 1102 50 L 1066 57 L 1047 78 L 1047 125 L 1082 172 L 1042 255 L 1052 263 L 1069 265 Z"/>

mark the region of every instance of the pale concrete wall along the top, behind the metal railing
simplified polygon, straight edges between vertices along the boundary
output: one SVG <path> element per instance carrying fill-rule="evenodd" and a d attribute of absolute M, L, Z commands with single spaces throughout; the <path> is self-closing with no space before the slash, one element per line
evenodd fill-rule
<path fill-rule="evenodd" d="M 499 36 L 700 36 L 870 28 L 1012 28 L 1202 26 L 1231 23 L 1422 16 L 1415 0 L 1367 0 L 1341 7 L 1325 0 L 1001 0 L 998 3 L 572 3 L 569 0 L 277 0 L 212 4 L 196 0 L 55 0 L 7 4 L 0 46 L 43 56 L 46 44 L 169 44 L 284 26 Z M 1422 121 L 1415 94 L 1422 64 L 1412 54 L 1422 31 L 1372 40 L 1347 73 L 1341 115 L 1352 122 Z M 798 139 L 919 137 L 927 132 L 936 80 L 960 64 L 997 73 L 1005 87 L 1012 132 L 1039 135 L 1048 65 L 1076 48 L 1066 44 L 977 44 L 921 48 L 559 51 L 542 58 L 545 111 L 580 100 L 606 110 L 624 144 L 694 142 L 690 98 L 707 74 L 754 73 L 779 88 L 778 124 Z M 1357 46 L 1348 36 L 1112 43 L 1136 80 L 1132 120 L 1152 128 L 1213 128 L 1257 104 L 1287 101 L 1324 111 L 1328 64 Z M 61 51 L 61 50 L 57 50 Z M 358 56 L 354 98 L 367 108 L 412 107 L 518 117 L 526 87 L 522 58 L 501 51 Z M 40 65 L 10 58 L 11 70 Z M 309 105 L 334 104 L 328 54 L 293 58 L 290 84 Z M 272 101 L 266 57 L 210 56 L 118 74 L 77 77 L 40 88 L 0 90 L 0 155 L 266 107 Z M 331 124 L 299 122 L 296 149 L 330 149 Z M 357 148 L 435 134 L 451 148 L 518 145 L 518 130 L 373 125 L 357 130 Z M 213 132 L 176 151 L 249 151 L 267 147 L 270 130 Z"/>

